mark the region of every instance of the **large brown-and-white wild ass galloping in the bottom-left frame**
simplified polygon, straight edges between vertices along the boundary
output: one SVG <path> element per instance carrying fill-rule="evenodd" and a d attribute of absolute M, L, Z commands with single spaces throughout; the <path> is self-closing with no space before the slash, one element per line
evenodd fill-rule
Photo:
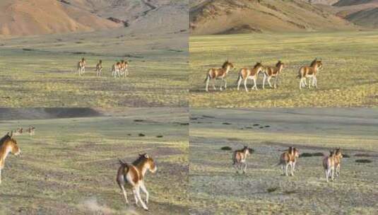
<path fill-rule="evenodd" d="M 148 210 L 146 204 L 148 204 L 149 194 L 143 180 L 147 170 L 149 170 L 151 173 L 156 172 L 157 168 L 153 158 L 150 158 L 150 156 L 148 156 L 146 153 L 143 153 L 139 154 L 139 158 L 131 164 L 121 160 L 119 160 L 119 163 L 121 166 L 119 167 L 117 173 L 117 183 L 124 194 L 126 204 L 129 204 L 126 190 L 124 188 L 127 183 L 132 187 L 135 203 L 138 204 L 138 202 L 141 202 L 143 209 Z M 146 204 L 141 199 L 140 190 L 146 194 Z"/>

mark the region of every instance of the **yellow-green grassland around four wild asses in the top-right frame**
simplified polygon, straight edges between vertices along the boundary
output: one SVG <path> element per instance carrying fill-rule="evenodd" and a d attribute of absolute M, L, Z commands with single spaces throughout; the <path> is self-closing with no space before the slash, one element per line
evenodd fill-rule
<path fill-rule="evenodd" d="M 372 107 L 378 105 L 377 32 L 263 33 L 248 35 L 191 36 L 191 107 Z M 321 58 L 317 89 L 299 89 L 300 66 Z M 229 59 L 227 91 L 206 93 L 203 80 L 212 67 Z M 277 89 L 237 91 L 237 73 L 256 62 L 286 67 Z M 220 81 L 217 85 L 220 85 Z M 250 83 L 250 82 L 249 82 Z M 250 85 L 249 85 L 250 86 Z M 262 77 L 258 79 L 261 89 Z"/>

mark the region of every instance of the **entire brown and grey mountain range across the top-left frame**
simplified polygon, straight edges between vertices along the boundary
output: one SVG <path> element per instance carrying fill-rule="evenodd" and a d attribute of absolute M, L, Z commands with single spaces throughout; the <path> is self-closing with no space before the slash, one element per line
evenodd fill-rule
<path fill-rule="evenodd" d="M 188 14 L 184 0 L 4 0 L 0 2 L 0 35 L 110 28 L 177 32 L 188 28 L 184 14 Z"/>

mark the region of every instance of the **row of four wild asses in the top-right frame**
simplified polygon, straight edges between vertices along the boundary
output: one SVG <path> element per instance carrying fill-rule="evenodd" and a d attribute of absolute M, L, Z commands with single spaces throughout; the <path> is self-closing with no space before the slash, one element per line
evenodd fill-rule
<path fill-rule="evenodd" d="M 281 61 L 278 61 L 276 66 L 264 66 L 261 64 L 261 62 L 257 62 L 253 68 L 242 68 L 239 71 L 239 74 L 237 76 L 237 90 L 240 89 L 240 83 L 244 81 L 244 88 L 245 91 L 248 92 L 247 88 L 247 80 L 253 81 L 252 90 L 257 90 L 257 77 L 260 73 L 264 74 L 264 80 L 263 80 L 263 89 L 265 88 L 266 81 L 268 82 L 269 86 L 271 88 L 277 88 L 278 78 L 280 76 L 280 73 L 283 71 L 285 64 Z M 317 88 L 317 72 L 319 69 L 323 68 L 323 64 L 321 63 L 321 60 L 314 59 L 309 66 L 302 66 L 300 67 L 298 71 L 297 78 L 300 79 L 300 89 L 308 86 L 311 88 L 311 86 L 314 86 Z M 223 63 L 222 68 L 212 68 L 208 70 L 208 73 L 206 74 L 206 92 L 208 92 L 208 84 L 211 80 L 213 80 L 213 89 L 215 88 L 215 80 L 221 80 L 224 83 L 224 86 L 220 86 L 220 91 L 223 91 L 223 88 L 227 88 L 227 81 L 226 76 L 228 75 L 228 72 L 230 70 L 234 69 L 234 65 L 229 62 L 228 60 Z M 272 86 L 271 79 L 275 78 L 274 84 Z M 309 84 L 307 85 L 307 79 L 309 79 Z"/>

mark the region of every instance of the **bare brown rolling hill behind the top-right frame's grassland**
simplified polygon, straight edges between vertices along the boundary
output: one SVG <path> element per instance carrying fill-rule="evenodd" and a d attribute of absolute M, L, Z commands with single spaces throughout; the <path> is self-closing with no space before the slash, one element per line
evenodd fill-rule
<path fill-rule="evenodd" d="M 303 0 L 194 0 L 190 6 L 194 35 L 357 29 L 345 19 Z"/>

